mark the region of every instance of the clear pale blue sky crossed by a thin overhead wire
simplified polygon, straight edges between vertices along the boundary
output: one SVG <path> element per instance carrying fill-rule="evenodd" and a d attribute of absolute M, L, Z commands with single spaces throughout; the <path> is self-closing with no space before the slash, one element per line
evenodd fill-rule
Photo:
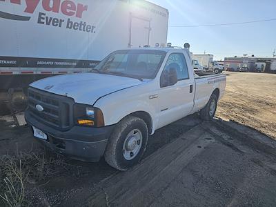
<path fill-rule="evenodd" d="M 148 0 L 167 8 L 169 26 L 197 26 L 276 19 L 275 0 Z M 195 54 L 215 59 L 244 54 L 272 57 L 276 48 L 276 21 L 228 26 L 168 28 L 168 42 L 189 42 Z"/>

